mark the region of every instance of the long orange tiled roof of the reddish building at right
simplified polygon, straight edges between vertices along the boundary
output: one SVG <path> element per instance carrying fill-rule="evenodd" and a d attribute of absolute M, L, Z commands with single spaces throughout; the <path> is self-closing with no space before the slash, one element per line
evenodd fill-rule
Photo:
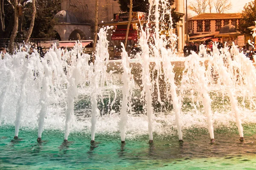
<path fill-rule="evenodd" d="M 219 19 L 239 19 L 242 18 L 241 13 L 227 13 L 227 14 L 218 14 L 218 13 L 205 13 L 198 14 L 195 17 L 189 18 L 188 20 L 219 20 Z"/>

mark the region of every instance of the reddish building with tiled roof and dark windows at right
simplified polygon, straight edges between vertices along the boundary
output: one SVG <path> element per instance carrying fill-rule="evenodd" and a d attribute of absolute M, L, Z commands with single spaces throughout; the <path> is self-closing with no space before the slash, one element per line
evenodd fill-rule
<path fill-rule="evenodd" d="M 198 14 L 188 19 L 190 42 L 207 42 L 208 40 L 227 42 L 232 45 L 244 45 L 244 36 L 236 28 L 239 26 L 241 14 Z"/>

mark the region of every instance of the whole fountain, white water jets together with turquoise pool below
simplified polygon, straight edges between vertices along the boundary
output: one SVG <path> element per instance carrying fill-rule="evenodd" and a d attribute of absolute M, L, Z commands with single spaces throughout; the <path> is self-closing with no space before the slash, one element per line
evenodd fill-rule
<path fill-rule="evenodd" d="M 44 58 L 20 50 L 0 61 L 0 164 L 100 168 L 111 157 L 103 166 L 165 167 L 168 160 L 186 169 L 216 166 L 221 157 L 221 166 L 252 166 L 256 73 L 249 58 L 234 44 L 177 57 L 175 35 L 146 28 L 142 54 L 131 59 L 122 50 L 122 59 L 109 60 L 108 29 L 98 33 L 94 65 L 79 42 L 70 51 L 54 46 Z"/>

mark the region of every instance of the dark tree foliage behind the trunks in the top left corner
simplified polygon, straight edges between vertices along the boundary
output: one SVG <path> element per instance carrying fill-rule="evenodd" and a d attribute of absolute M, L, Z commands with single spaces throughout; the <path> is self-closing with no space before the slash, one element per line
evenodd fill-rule
<path fill-rule="evenodd" d="M 9 38 L 14 23 L 14 10 L 9 3 L 4 2 L 6 31 L 2 37 Z M 13 0 L 10 2 L 13 3 Z M 21 0 L 20 2 L 23 4 L 23 15 L 22 31 L 19 31 L 18 34 L 23 35 L 24 38 L 26 37 L 26 31 L 28 31 L 31 22 L 32 3 L 30 3 L 29 0 Z M 61 10 L 61 0 L 36 0 L 36 10 L 35 25 L 31 38 L 55 37 L 56 31 L 53 30 L 55 21 L 52 19 L 55 14 Z"/>

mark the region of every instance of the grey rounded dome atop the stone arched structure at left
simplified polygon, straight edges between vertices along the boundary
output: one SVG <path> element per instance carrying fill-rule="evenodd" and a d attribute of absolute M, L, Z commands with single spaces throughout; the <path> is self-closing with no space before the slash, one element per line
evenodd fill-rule
<path fill-rule="evenodd" d="M 57 20 L 58 23 L 79 23 L 75 14 L 71 11 L 59 11 L 53 19 Z"/>

